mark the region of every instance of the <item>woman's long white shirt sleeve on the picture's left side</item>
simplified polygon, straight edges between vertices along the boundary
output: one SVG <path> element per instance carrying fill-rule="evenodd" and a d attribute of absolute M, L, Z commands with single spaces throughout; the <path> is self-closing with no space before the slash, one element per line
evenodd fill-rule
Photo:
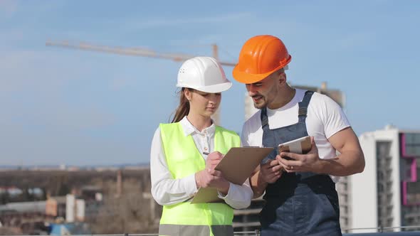
<path fill-rule="evenodd" d="M 197 192 L 194 174 L 174 179 L 169 172 L 162 146 L 160 129 L 154 132 L 150 150 L 150 179 L 152 196 L 159 205 L 182 203 Z"/>

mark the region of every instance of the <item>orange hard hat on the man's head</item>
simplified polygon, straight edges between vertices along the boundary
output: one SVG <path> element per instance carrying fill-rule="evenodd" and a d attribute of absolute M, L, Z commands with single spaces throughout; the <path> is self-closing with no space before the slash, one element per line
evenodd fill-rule
<path fill-rule="evenodd" d="M 292 60 L 287 48 L 275 36 L 254 36 L 243 44 L 233 78 L 245 84 L 263 80 Z"/>

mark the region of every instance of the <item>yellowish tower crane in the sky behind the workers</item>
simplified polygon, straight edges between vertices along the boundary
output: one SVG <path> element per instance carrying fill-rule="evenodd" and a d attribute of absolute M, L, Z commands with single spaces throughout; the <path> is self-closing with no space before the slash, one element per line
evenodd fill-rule
<path fill-rule="evenodd" d="M 122 47 L 112 47 L 106 45 L 93 45 L 90 43 L 69 43 L 68 41 L 47 41 L 46 46 L 54 46 L 61 48 L 70 48 L 78 50 L 88 50 L 96 51 L 101 53 L 114 53 L 119 55 L 132 55 L 132 56 L 141 56 L 148 58 L 162 58 L 174 60 L 177 62 L 188 60 L 189 58 L 194 58 L 195 55 L 187 54 L 178 54 L 178 53 L 158 53 L 154 50 L 149 50 L 147 48 L 122 48 Z M 214 43 L 211 45 L 213 49 L 213 58 L 219 60 L 219 47 Z M 221 65 L 225 66 L 235 66 L 236 63 L 219 61 Z M 220 107 L 213 115 L 212 119 L 216 124 L 220 124 Z"/>

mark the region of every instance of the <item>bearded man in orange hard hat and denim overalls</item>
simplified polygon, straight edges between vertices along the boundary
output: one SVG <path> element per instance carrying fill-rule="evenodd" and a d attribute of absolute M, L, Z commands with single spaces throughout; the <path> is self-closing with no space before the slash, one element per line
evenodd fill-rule
<path fill-rule="evenodd" d="M 362 149 L 336 102 L 288 85 L 290 60 L 279 38 L 255 36 L 243 45 L 233 69 L 261 109 L 243 124 L 243 146 L 277 150 L 303 136 L 312 141 L 308 154 L 273 151 L 251 176 L 254 197 L 265 191 L 261 235 L 341 235 L 335 183 L 337 176 L 363 171 Z"/>

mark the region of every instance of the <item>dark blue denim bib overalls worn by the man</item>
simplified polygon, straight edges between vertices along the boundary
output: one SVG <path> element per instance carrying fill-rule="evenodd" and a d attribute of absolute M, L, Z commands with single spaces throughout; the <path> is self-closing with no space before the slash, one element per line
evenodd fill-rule
<path fill-rule="evenodd" d="M 308 136 L 305 119 L 312 95 L 312 91 L 305 92 L 299 102 L 298 123 L 287 127 L 269 129 L 267 109 L 261 110 L 263 146 L 275 147 L 264 161 L 275 159 L 278 144 Z M 264 199 L 266 205 L 260 213 L 261 236 L 342 235 L 338 196 L 330 176 L 284 171 L 278 181 L 268 184 Z"/>

